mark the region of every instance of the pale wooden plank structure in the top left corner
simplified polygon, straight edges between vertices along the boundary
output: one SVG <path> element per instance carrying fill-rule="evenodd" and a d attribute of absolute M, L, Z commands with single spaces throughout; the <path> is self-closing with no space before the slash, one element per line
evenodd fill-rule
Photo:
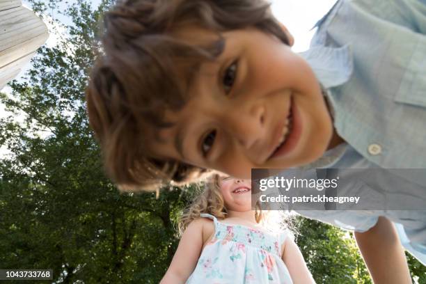
<path fill-rule="evenodd" d="M 48 37 L 45 23 L 20 0 L 0 0 L 0 90 L 19 74 Z"/>

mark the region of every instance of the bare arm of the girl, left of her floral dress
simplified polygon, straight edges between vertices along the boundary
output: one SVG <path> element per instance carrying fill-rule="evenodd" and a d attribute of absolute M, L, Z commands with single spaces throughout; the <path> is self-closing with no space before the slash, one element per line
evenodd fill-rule
<path fill-rule="evenodd" d="M 205 219 L 192 221 L 180 239 L 178 249 L 160 284 L 185 283 L 194 271 L 203 247 L 203 223 Z"/>

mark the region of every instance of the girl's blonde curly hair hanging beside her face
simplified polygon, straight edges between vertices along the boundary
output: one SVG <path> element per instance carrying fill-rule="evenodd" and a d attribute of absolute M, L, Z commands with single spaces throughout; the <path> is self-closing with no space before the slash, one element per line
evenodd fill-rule
<path fill-rule="evenodd" d="M 221 194 L 221 176 L 218 174 L 211 175 L 204 183 L 204 188 L 194 201 L 185 208 L 182 216 L 180 216 L 178 228 L 179 235 L 182 236 L 184 230 L 189 226 L 189 223 L 200 218 L 201 213 L 212 214 L 219 220 L 226 218 L 228 212 L 225 207 L 225 202 Z M 265 212 L 262 212 L 260 203 L 255 206 L 255 220 L 260 223 L 264 218 Z"/>

